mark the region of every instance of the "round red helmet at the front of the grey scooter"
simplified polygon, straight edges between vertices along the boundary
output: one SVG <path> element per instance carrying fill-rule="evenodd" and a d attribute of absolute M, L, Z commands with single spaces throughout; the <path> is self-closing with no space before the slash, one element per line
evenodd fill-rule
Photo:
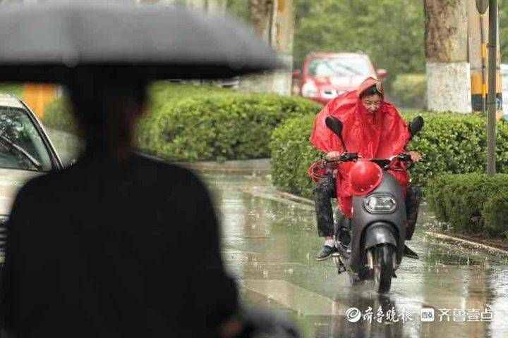
<path fill-rule="evenodd" d="M 358 161 L 349 170 L 349 182 L 355 195 L 372 192 L 381 183 L 382 170 L 370 161 Z"/>

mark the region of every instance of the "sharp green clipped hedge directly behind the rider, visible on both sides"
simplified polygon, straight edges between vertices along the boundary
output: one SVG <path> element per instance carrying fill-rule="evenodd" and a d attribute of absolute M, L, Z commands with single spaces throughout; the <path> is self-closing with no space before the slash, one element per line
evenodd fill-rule
<path fill-rule="evenodd" d="M 411 142 L 409 149 L 424 154 L 423 161 L 411 169 L 415 184 L 425 187 L 430 178 L 452 173 L 483 173 L 486 163 L 486 121 L 480 115 L 406 111 L 406 120 L 422 115 L 425 127 Z M 272 176 L 280 189 L 311 196 L 313 184 L 307 168 L 319 158 L 309 144 L 314 115 L 286 121 L 272 136 Z M 288 146 L 291 144 L 291 146 Z M 508 125 L 497 128 L 497 168 L 508 165 Z"/>

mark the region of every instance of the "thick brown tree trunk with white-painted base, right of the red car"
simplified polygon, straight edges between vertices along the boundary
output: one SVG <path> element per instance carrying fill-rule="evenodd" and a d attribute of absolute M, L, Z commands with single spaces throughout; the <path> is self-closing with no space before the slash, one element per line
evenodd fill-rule
<path fill-rule="evenodd" d="M 471 112 L 469 0 L 425 0 L 428 108 Z"/>

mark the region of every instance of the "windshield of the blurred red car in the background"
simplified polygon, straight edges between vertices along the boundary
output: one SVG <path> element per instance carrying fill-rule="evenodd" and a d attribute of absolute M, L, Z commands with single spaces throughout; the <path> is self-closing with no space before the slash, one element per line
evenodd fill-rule
<path fill-rule="evenodd" d="M 310 61 L 308 73 L 317 77 L 368 76 L 371 68 L 365 58 L 315 58 Z"/>

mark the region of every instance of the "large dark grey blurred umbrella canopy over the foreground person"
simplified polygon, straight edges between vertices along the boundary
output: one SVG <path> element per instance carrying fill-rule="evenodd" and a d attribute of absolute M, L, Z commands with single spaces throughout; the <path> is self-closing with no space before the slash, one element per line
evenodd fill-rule
<path fill-rule="evenodd" d="M 79 68 L 114 80 L 224 78 L 282 66 L 229 18 L 97 1 L 2 6 L 0 46 L 1 81 L 64 82 Z"/>

